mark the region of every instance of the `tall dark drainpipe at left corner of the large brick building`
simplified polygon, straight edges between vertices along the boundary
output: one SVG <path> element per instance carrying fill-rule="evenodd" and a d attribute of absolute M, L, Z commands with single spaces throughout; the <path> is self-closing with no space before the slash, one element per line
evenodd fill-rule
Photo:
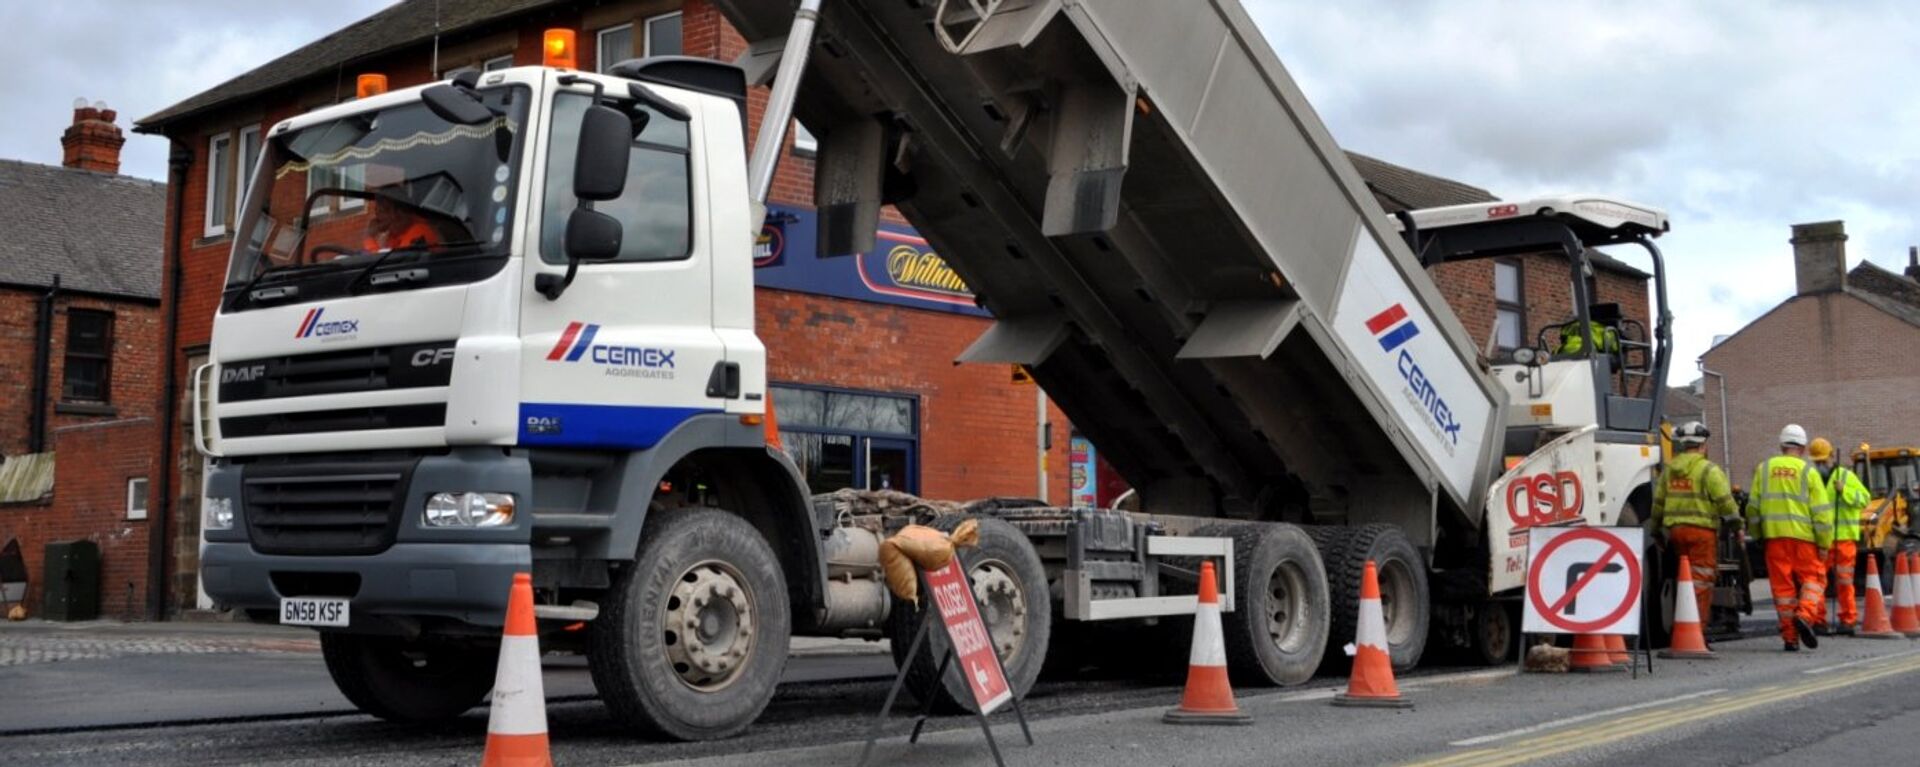
<path fill-rule="evenodd" d="M 154 477 L 156 492 L 148 498 L 154 504 L 154 515 L 148 519 L 146 527 L 146 617 L 148 621 L 167 619 L 167 552 L 171 550 L 173 534 L 169 532 L 167 521 L 173 511 L 173 473 L 179 471 L 179 461 L 175 459 L 173 434 L 175 421 L 179 419 L 179 398 L 180 398 L 180 281 L 182 281 L 182 254 L 180 238 L 184 233 L 184 211 L 186 211 L 186 169 L 194 163 L 194 152 L 173 142 L 173 152 L 167 154 L 167 188 L 173 190 L 173 223 L 167 229 L 167 311 L 161 323 L 167 327 L 167 340 L 161 342 L 159 350 L 167 358 L 165 373 L 161 373 L 161 400 L 159 400 L 159 463 Z"/>

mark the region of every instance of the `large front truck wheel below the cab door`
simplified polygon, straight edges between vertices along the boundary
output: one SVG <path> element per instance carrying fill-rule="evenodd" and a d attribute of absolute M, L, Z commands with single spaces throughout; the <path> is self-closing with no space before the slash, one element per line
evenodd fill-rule
<path fill-rule="evenodd" d="M 789 631 L 787 581 L 760 531 L 714 507 L 655 511 L 591 623 L 588 667 L 614 721 L 726 738 L 774 698 Z"/>

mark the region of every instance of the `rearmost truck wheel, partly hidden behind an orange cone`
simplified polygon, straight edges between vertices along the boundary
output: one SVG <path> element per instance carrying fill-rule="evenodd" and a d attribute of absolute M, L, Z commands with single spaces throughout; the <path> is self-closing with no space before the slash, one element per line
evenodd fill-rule
<path fill-rule="evenodd" d="M 1327 582 L 1332 586 L 1332 642 L 1344 646 L 1357 636 L 1359 581 L 1367 571 L 1367 559 L 1373 559 L 1380 582 L 1380 613 L 1386 617 L 1386 654 L 1394 669 L 1411 669 L 1427 652 L 1427 627 L 1432 621 L 1427 561 L 1394 525 L 1363 525 L 1350 532 L 1338 559 L 1327 561 Z M 1346 654 L 1329 656 L 1334 656 L 1332 667 L 1342 671 L 1350 667 Z"/>

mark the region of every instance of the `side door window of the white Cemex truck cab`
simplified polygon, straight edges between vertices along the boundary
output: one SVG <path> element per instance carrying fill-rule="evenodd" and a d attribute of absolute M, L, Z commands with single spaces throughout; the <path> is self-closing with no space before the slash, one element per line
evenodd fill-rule
<path fill-rule="evenodd" d="M 580 115 L 593 102 L 588 94 L 563 92 L 553 102 L 553 142 L 547 150 L 547 198 L 540 225 L 540 258 L 566 263 L 566 217 L 574 200 L 574 154 L 580 144 Z M 630 261 L 674 261 L 693 250 L 693 177 L 687 123 L 668 119 L 645 106 L 618 104 L 622 111 L 645 113 L 647 127 L 634 136 L 634 156 L 626 163 L 626 192 L 593 210 L 620 221 L 620 258 Z"/>

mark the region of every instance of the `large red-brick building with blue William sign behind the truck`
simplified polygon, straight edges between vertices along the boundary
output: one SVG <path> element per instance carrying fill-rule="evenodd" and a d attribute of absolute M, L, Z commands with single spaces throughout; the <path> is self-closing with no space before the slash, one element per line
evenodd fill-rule
<path fill-rule="evenodd" d="M 436 67 L 444 75 L 459 67 L 540 63 L 541 31 L 549 27 L 580 33 L 584 69 L 634 56 L 735 60 L 745 52 L 743 38 L 707 0 L 440 6 L 436 25 L 434 2 L 399 2 L 138 123 L 138 131 L 173 140 L 171 181 L 184 206 L 186 227 L 169 240 L 180 269 L 180 283 L 169 285 L 175 298 L 169 313 L 179 329 L 175 371 L 205 359 L 232 244 L 230 211 L 259 156 L 261 131 L 351 98 L 359 73 L 384 73 L 399 88 L 430 79 Z M 438 46 L 434 29 L 440 31 Z M 764 100 L 764 88 L 751 98 L 755 129 Z M 985 311 L 899 215 L 885 215 L 876 252 L 818 258 L 812 250 L 810 150 L 804 131 L 789 138 L 755 263 L 756 321 L 768 346 L 783 442 L 814 490 L 889 486 L 943 498 L 1041 494 L 1037 390 L 1014 383 L 1014 373 L 1002 365 L 952 365 L 987 329 Z M 1354 161 L 1388 210 L 1494 200 L 1486 190 L 1379 160 L 1354 156 Z M 1553 271 L 1530 260 L 1501 263 L 1438 269 L 1471 331 L 1488 333 L 1507 317 L 1509 336 L 1521 338 L 1542 323 L 1563 319 L 1565 265 Z M 1611 260 L 1603 263 L 1601 288 L 1620 296 L 1640 290 L 1634 306 L 1644 317 L 1644 275 Z M 1511 300 L 1496 302 L 1488 292 L 1496 269 L 1511 269 L 1505 273 L 1513 286 L 1513 296 L 1505 298 Z M 1058 409 L 1046 413 L 1044 486 L 1048 500 L 1058 504 L 1068 500 L 1069 475 L 1087 477 L 1087 467 L 1096 463 L 1087 459 L 1073 471 L 1071 425 Z M 182 444 L 177 434 L 173 456 L 186 471 L 173 498 L 177 507 L 194 509 L 198 465 Z M 1100 484 L 1112 486 L 1110 479 Z M 196 523 L 192 513 L 179 517 L 182 525 Z M 180 554 L 186 567 L 188 552 Z M 188 596 L 184 588 L 177 594 L 179 600 Z"/>

